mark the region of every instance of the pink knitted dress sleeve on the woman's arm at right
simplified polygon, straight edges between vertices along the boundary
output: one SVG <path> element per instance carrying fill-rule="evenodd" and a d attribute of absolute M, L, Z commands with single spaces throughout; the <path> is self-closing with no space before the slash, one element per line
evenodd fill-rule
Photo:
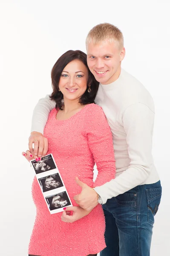
<path fill-rule="evenodd" d="M 88 112 L 85 131 L 98 169 L 94 186 L 101 186 L 115 178 L 115 157 L 112 133 L 106 116 L 98 105 L 93 105 L 92 111 Z"/>

